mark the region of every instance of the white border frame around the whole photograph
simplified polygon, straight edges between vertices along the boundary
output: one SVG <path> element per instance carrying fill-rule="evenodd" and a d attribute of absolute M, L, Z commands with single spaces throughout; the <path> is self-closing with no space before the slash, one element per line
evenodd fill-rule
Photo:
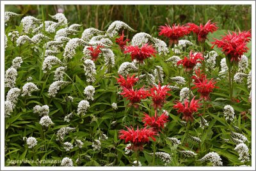
<path fill-rule="evenodd" d="M 251 4 L 252 5 L 252 167 L 5 167 L 4 5 L 6 4 Z M 255 170 L 255 1 L 1 1 L 1 170 Z"/>

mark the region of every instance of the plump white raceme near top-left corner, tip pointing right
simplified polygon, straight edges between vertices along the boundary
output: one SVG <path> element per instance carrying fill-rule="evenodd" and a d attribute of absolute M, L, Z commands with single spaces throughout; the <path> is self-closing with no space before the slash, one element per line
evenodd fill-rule
<path fill-rule="evenodd" d="M 36 19 L 32 16 L 26 16 L 21 21 L 20 24 L 23 26 L 24 33 L 28 34 L 30 31 L 36 28 L 36 24 L 40 23 L 41 20 Z"/>

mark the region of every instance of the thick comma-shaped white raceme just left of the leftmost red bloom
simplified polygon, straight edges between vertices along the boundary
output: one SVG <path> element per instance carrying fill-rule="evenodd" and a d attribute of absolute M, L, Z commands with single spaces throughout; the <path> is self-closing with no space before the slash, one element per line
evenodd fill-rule
<path fill-rule="evenodd" d="M 76 54 L 76 48 L 79 46 L 85 46 L 88 45 L 86 41 L 79 39 L 79 38 L 72 38 L 68 41 L 63 56 L 65 59 L 72 59 Z"/>

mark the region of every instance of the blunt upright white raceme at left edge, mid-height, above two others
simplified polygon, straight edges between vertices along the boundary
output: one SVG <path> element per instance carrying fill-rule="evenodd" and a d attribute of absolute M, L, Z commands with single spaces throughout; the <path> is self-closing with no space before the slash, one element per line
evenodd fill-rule
<path fill-rule="evenodd" d="M 12 88 L 16 84 L 18 73 L 17 70 L 13 67 L 10 67 L 6 70 L 4 75 L 4 87 Z"/>

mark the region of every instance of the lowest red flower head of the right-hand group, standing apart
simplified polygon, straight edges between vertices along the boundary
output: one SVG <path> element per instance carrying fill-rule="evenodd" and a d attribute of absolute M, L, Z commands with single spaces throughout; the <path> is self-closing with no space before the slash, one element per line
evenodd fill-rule
<path fill-rule="evenodd" d="M 182 113 L 182 119 L 186 120 L 188 122 L 189 120 L 192 122 L 194 120 L 193 114 L 197 112 L 197 109 L 200 108 L 201 103 L 198 103 L 199 100 L 195 100 L 195 96 L 190 101 L 190 104 L 188 102 L 188 99 L 184 101 L 184 105 L 180 103 L 179 101 L 176 102 L 176 105 L 173 106 L 173 108 L 178 109 L 178 113 Z"/>

